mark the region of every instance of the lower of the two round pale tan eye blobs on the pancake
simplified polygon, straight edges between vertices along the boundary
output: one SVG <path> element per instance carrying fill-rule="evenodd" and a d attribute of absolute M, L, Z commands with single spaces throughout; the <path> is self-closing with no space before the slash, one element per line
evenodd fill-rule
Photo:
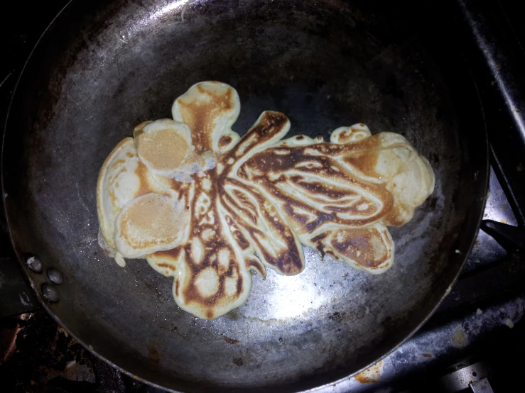
<path fill-rule="evenodd" d="M 189 218 L 185 203 L 173 196 L 153 192 L 138 196 L 117 216 L 117 250 L 125 258 L 170 250 L 184 238 Z"/>

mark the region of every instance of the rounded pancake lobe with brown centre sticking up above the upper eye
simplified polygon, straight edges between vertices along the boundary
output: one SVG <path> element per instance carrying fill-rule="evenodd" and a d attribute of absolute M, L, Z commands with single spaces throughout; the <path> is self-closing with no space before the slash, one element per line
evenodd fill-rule
<path fill-rule="evenodd" d="M 221 82 L 199 82 L 175 99 L 173 120 L 186 123 L 192 131 L 197 152 L 223 153 L 237 144 L 239 134 L 232 125 L 239 117 L 241 102 L 237 91 Z"/>

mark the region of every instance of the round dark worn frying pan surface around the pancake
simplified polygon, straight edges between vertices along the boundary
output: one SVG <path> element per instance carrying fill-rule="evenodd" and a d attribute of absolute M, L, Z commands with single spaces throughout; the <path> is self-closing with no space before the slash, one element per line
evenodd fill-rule
<path fill-rule="evenodd" d="M 18 82 L 2 169 L 13 245 L 50 314 L 119 369 L 188 392 L 320 387 L 416 331 L 475 239 L 487 136 L 443 15 L 390 3 L 197 0 L 184 21 L 185 0 L 68 4 Z M 178 309 L 172 280 L 145 260 L 121 268 L 104 256 L 95 203 L 104 158 L 136 124 L 168 117 L 176 96 L 214 79 L 239 92 L 241 134 L 268 109 L 290 118 L 290 135 L 364 122 L 428 157 L 435 192 L 391 228 L 391 270 L 368 275 L 307 249 L 300 275 L 256 275 L 246 304 L 204 321 Z M 30 256 L 43 272 L 28 268 Z M 50 281 L 57 270 L 62 284 Z"/>

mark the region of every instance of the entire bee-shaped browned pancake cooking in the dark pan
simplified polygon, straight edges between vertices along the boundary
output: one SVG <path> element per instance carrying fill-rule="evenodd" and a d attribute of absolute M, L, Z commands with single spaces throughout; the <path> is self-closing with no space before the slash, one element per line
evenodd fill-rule
<path fill-rule="evenodd" d="M 174 278 L 185 311 L 214 319 L 240 306 L 251 272 L 297 275 L 303 245 L 379 274 L 394 261 L 386 226 L 410 221 L 433 192 L 426 158 L 401 135 L 340 127 L 330 142 L 284 139 L 290 121 L 265 111 L 240 138 L 235 89 L 200 82 L 172 119 L 139 124 L 102 165 L 101 245 L 124 266 L 146 258 Z"/>

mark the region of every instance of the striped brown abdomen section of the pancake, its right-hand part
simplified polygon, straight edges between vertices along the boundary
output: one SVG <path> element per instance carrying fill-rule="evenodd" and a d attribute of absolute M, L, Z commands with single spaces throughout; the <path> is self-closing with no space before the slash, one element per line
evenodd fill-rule
<path fill-rule="evenodd" d="M 303 245 L 385 272 L 394 262 L 386 226 L 408 222 L 433 192 L 431 167 L 403 136 L 372 136 L 364 124 L 337 128 L 330 140 L 283 140 L 251 155 L 238 177 L 261 189 Z"/>

